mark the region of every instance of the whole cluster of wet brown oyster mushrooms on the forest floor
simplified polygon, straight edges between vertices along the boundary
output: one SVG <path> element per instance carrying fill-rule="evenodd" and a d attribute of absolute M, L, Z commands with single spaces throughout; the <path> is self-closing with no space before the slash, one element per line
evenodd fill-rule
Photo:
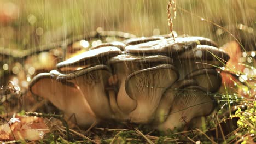
<path fill-rule="evenodd" d="M 203 37 L 132 38 L 91 47 L 29 87 L 84 127 L 114 119 L 173 130 L 214 110 L 228 59 Z"/>

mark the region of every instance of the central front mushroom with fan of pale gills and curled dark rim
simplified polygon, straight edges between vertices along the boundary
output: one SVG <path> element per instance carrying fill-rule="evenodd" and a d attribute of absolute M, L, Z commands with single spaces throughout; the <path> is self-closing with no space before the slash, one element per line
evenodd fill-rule
<path fill-rule="evenodd" d="M 178 71 L 170 64 L 136 71 L 125 81 L 125 90 L 137 101 L 137 107 L 129 117 L 131 122 L 149 123 L 165 89 L 178 79 Z"/>

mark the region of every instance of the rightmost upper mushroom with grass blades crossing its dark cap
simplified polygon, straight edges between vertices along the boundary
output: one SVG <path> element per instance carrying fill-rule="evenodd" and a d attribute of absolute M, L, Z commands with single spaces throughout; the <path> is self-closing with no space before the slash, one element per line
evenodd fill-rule
<path fill-rule="evenodd" d="M 213 46 L 197 45 L 174 59 L 174 66 L 180 72 L 181 79 L 195 70 L 223 67 L 229 59 L 228 53 Z"/>

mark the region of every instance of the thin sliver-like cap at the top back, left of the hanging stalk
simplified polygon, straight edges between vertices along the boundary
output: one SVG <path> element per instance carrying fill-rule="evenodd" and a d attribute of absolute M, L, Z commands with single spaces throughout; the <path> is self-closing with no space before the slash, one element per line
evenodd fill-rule
<path fill-rule="evenodd" d="M 152 36 L 152 37 L 131 38 L 131 39 L 124 40 L 123 43 L 126 45 L 137 45 L 137 44 L 146 43 L 148 41 L 154 41 L 159 39 L 165 39 L 165 37 L 158 35 L 158 36 Z"/>

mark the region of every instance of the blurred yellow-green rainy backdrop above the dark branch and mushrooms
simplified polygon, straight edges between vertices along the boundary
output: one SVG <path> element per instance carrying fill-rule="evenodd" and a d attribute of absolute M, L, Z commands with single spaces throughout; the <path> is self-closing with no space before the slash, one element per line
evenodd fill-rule
<path fill-rule="evenodd" d="M 216 40 L 220 45 L 232 40 L 230 34 L 226 37 L 225 31 L 196 16 L 199 15 L 229 29 L 233 34 L 236 31 L 232 30 L 243 29 L 240 37 L 246 35 L 246 39 L 255 41 L 255 0 L 176 2 L 177 18 L 173 20 L 173 29 L 179 35 L 199 35 Z M 95 31 L 98 27 L 137 36 L 167 34 L 167 4 L 167 0 L 0 0 L 0 47 L 30 49 Z"/>

